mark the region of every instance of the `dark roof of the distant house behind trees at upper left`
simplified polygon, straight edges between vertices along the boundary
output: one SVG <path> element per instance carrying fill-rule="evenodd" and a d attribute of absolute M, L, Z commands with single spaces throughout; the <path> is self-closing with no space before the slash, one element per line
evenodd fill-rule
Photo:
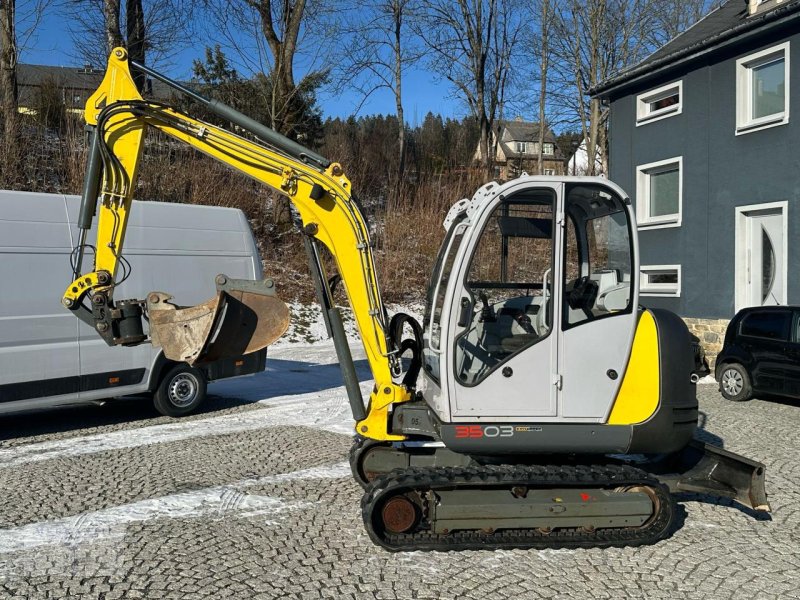
<path fill-rule="evenodd" d="M 20 63 L 17 65 L 17 87 L 19 89 L 20 105 L 24 106 L 32 103 L 35 100 L 35 90 L 48 81 L 52 81 L 61 89 L 76 92 L 71 97 L 65 97 L 67 105 L 82 105 L 100 86 L 104 74 L 105 69 L 95 69 L 91 66 L 54 67 Z M 169 87 L 160 81 L 150 80 L 150 83 L 153 97 L 169 98 Z"/>

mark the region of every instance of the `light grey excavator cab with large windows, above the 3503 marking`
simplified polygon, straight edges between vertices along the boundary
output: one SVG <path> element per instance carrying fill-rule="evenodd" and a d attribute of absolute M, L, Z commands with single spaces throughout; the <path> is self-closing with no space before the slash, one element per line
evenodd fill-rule
<path fill-rule="evenodd" d="M 602 422 L 639 319 L 625 195 L 599 179 L 524 177 L 459 208 L 425 323 L 437 412 Z"/>

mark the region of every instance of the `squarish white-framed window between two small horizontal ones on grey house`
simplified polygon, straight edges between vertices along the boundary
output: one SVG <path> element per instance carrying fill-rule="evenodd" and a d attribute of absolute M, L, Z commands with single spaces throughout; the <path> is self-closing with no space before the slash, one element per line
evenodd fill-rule
<path fill-rule="evenodd" d="M 636 169 L 636 220 L 639 227 L 681 224 L 683 157 L 640 165 Z"/>

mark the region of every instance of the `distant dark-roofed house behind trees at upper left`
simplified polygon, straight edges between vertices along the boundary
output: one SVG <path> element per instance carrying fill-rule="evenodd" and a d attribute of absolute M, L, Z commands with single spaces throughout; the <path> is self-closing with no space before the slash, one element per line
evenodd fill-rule
<path fill-rule="evenodd" d="M 42 94 L 58 90 L 60 100 L 68 112 L 83 113 L 84 104 L 103 80 L 105 69 L 91 65 L 83 67 L 53 67 L 49 65 L 17 65 L 17 92 L 19 111 L 35 113 L 42 103 Z M 170 89 L 160 81 L 147 80 L 147 95 L 153 98 L 170 97 Z"/>

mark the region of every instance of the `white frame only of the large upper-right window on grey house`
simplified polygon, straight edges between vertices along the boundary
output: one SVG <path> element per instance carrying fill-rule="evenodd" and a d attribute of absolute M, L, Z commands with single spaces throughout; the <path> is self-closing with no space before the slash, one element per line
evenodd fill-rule
<path fill-rule="evenodd" d="M 736 135 L 761 131 L 769 127 L 786 125 L 789 122 L 789 42 L 748 54 L 736 61 Z M 783 55 L 784 104 L 783 112 L 752 119 L 752 68 L 770 62 Z"/>

